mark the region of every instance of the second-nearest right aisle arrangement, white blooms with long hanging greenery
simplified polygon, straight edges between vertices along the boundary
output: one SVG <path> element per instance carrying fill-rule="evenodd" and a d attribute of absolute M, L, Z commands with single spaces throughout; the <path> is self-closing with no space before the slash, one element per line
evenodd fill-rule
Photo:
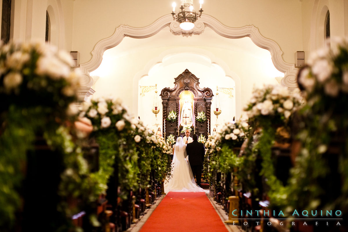
<path fill-rule="evenodd" d="M 260 175 L 266 179 L 269 186 L 268 195 L 271 202 L 277 204 L 277 194 L 283 184 L 275 176 L 275 167 L 271 147 L 277 141 L 284 142 L 290 137 L 288 122 L 294 112 L 301 107 L 301 96 L 298 92 L 290 92 L 285 86 L 268 85 L 255 89 L 250 102 L 245 107 L 249 121 L 256 130 L 261 129 L 258 142 L 253 150 L 260 153 L 262 169 Z M 252 154 L 247 154 L 252 155 Z"/>

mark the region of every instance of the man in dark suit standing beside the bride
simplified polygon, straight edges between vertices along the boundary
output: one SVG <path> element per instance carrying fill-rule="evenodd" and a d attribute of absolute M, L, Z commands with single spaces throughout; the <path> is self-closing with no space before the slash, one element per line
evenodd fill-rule
<path fill-rule="evenodd" d="M 200 178 L 202 176 L 202 168 L 204 161 L 204 145 L 197 141 L 198 136 L 196 134 L 192 135 L 193 142 L 188 143 L 186 146 L 186 153 L 189 157 L 190 166 L 192 169 L 193 177 L 196 176 L 197 185 L 200 185 Z"/>

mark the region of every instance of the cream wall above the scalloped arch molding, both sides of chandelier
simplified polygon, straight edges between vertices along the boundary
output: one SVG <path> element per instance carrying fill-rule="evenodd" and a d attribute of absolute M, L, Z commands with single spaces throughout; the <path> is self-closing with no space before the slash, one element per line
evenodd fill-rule
<path fill-rule="evenodd" d="M 150 25 L 161 16 L 171 13 L 172 2 L 76 0 L 73 49 L 80 51 L 81 63 L 88 62 L 96 43 L 110 37 L 116 27 Z M 301 2 L 298 0 L 207 0 L 203 10 L 203 14 L 211 15 L 230 27 L 258 27 L 264 37 L 279 44 L 287 63 L 294 63 L 295 51 L 302 49 Z"/>

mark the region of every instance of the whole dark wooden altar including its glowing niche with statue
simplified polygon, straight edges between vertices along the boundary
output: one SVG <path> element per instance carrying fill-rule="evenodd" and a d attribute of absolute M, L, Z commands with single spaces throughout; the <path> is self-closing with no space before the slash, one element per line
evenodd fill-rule
<path fill-rule="evenodd" d="M 163 106 L 163 131 L 166 136 L 184 135 L 183 129 L 189 128 L 193 133 L 209 134 L 211 123 L 211 104 L 213 92 L 210 88 L 200 88 L 199 78 L 192 74 L 188 69 L 174 79 L 174 88 L 164 88 L 161 90 Z M 168 121 L 169 112 L 176 113 L 175 121 Z M 198 122 L 196 120 L 199 112 L 204 112 L 207 120 Z M 209 126 L 209 127 L 208 127 Z"/>

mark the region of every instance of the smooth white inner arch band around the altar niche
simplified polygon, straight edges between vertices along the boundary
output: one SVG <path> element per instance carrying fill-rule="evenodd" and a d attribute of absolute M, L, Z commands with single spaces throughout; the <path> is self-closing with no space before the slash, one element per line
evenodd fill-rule
<path fill-rule="evenodd" d="M 133 77 L 133 96 L 136 96 L 133 98 L 133 112 L 134 115 L 137 115 L 138 111 L 138 101 L 139 101 L 139 94 L 137 94 L 137 91 L 139 89 L 139 80 L 145 76 L 148 75 L 149 71 L 152 69 L 153 66 L 156 64 L 162 63 L 162 61 L 165 59 L 166 56 L 170 54 L 180 54 L 180 53 L 193 53 L 200 56 L 207 57 L 212 64 L 219 65 L 222 70 L 225 72 L 226 77 L 229 77 L 235 81 L 235 91 L 236 91 L 236 117 L 239 118 L 240 115 L 242 115 L 242 87 L 240 83 L 239 76 L 230 70 L 229 66 L 224 62 L 222 59 L 217 58 L 214 54 L 211 52 L 201 49 L 201 48 L 185 48 L 185 52 L 181 51 L 180 48 L 172 48 L 164 51 L 159 56 L 151 59 L 147 65 L 145 65 L 144 69 L 137 72 L 137 74 Z"/>

